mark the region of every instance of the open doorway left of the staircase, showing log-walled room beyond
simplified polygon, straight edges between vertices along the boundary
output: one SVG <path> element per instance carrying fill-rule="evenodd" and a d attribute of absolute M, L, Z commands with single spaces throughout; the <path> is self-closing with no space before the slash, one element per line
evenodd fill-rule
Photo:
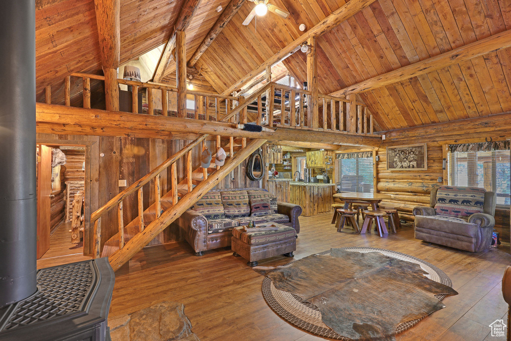
<path fill-rule="evenodd" d="M 37 259 L 83 255 L 85 146 L 37 145 Z"/>

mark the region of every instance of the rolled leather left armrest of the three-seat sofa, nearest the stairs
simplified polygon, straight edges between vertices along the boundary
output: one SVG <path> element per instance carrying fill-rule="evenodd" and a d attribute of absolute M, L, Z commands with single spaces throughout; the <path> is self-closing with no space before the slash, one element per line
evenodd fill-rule
<path fill-rule="evenodd" d="M 188 241 L 196 253 L 206 251 L 206 217 L 196 211 L 187 210 L 179 217 L 179 226 L 184 233 L 184 239 Z"/>

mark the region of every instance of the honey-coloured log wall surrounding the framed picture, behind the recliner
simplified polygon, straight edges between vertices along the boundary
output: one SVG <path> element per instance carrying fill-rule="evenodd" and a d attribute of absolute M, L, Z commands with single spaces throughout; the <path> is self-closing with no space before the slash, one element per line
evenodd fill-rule
<path fill-rule="evenodd" d="M 500 119 L 508 115 L 489 118 L 484 124 L 459 121 L 447 127 L 432 125 L 427 127 L 390 131 L 387 140 L 378 149 L 377 190 L 392 196 L 382 201 L 384 206 L 392 206 L 399 211 L 401 219 L 413 221 L 412 209 L 417 205 L 429 206 L 429 193 L 435 187 L 447 184 L 442 169 L 442 146 L 446 143 L 484 142 L 485 138 L 502 141 L 509 137 L 509 126 Z M 498 118 L 498 119 L 497 119 Z M 499 123 L 500 122 L 500 123 Z M 478 131 L 478 130 L 483 131 Z M 386 147 L 427 143 L 428 169 L 426 171 L 387 170 Z M 443 182 L 437 181 L 442 177 Z M 495 213 L 495 229 L 502 242 L 509 244 L 509 208 L 498 209 Z"/>

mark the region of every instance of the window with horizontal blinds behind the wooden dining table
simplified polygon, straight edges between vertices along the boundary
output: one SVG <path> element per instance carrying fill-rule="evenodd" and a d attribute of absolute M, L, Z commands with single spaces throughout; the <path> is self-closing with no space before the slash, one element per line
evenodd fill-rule
<path fill-rule="evenodd" d="M 338 158 L 335 183 L 341 192 L 373 192 L 373 156 Z"/>

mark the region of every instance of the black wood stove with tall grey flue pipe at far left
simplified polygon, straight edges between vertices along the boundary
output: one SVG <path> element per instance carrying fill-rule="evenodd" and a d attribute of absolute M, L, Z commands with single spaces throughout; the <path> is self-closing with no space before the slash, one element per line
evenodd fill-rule
<path fill-rule="evenodd" d="M 36 270 L 34 0 L 0 1 L 0 32 L 0 340 L 108 340 L 108 259 Z"/>

